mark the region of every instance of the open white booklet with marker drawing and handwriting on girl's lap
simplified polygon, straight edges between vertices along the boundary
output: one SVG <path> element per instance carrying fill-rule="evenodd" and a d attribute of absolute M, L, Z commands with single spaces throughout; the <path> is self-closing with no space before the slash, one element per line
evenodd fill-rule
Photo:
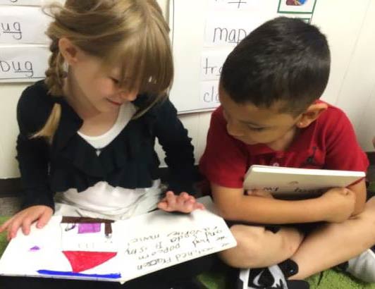
<path fill-rule="evenodd" d="M 191 214 L 152 211 L 124 221 L 53 216 L 30 235 L 18 231 L 0 275 L 124 283 L 168 266 L 235 247 L 210 197 Z"/>

